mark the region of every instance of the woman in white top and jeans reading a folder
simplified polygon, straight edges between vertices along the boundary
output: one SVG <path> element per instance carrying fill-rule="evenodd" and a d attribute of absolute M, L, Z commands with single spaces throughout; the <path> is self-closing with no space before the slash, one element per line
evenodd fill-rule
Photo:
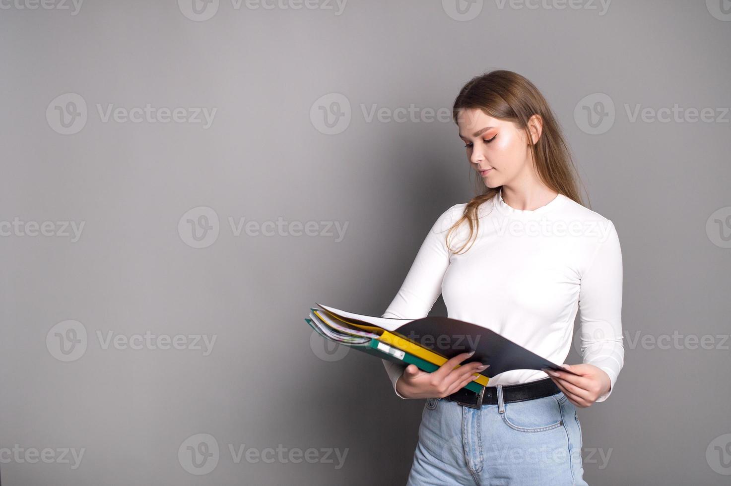
<path fill-rule="evenodd" d="M 384 360 L 398 396 L 427 399 L 408 484 L 586 485 L 576 407 L 606 400 L 624 363 L 616 229 L 580 203 L 558 122 L 525 77 L 474 77 L 453 118 L 482 194 L 439 216 L 383 316 L 426 316 L 441 293 L 449 317 L 563 363 L 581 311 L 583 363 L 499 373 L 478 396 L 461 389 L 488 363 L 469 354 L 433 373 Z"/>

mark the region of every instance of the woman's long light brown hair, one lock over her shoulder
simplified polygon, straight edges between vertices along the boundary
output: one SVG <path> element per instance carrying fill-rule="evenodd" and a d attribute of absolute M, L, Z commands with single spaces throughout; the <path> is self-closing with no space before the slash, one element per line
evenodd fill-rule
<path fill-rule="evenodd" d="M 538 177 L 548 188 L 583 204 L 577 189 L 578 173 L 561 126 L 541 92 L 526 77 L 504 69 L 473 77 L 462 87 L 455 99 L 452 107 L 452 119 L 455 124 L 460 110 L 469 109 L 482 110 L 493 118 L 512 121 L 527 135 L 529 135 L 529 119 L 533 115 L 539 115 L 542 118 L 541 136 L 537 143 L 529 143 Z M 469 223 L 469 238 L 459 248 L 461 251 L 480 228 L 478 208 L 483 202 L 495 197 L 501 188 L 501 186 L 487 187 L 481 180 L 477 183 L 482 186 L 482 193 L 467 203 L 461 218 L 447 232 L 447 248 L 450 251 L 452 248 L 449 246 L 449 238 L 452 231 L 463 221 Z"/>

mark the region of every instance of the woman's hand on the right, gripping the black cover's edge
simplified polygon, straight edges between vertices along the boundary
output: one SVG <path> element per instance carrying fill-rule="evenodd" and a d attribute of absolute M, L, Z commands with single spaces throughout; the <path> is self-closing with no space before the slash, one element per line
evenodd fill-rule
<path fill-rule="evenodd" d="M 565 371 L 544 370 L 550 379 L 564 392 L 569 401 L 582 409 L 590 406 L 597 398 L 608 392 L 612 383 L 607 372 L 594 365 L 565 365 L 572 373 Z"/>

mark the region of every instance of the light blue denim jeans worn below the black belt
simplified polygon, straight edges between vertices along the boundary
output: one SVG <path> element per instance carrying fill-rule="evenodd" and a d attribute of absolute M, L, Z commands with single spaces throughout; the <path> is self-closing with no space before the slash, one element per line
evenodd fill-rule
<path fill-rule="evenodd" d="M 471 409 L 426 400 L 407 486 L 586 485 L 581 425 L 564 392 Z"/>

